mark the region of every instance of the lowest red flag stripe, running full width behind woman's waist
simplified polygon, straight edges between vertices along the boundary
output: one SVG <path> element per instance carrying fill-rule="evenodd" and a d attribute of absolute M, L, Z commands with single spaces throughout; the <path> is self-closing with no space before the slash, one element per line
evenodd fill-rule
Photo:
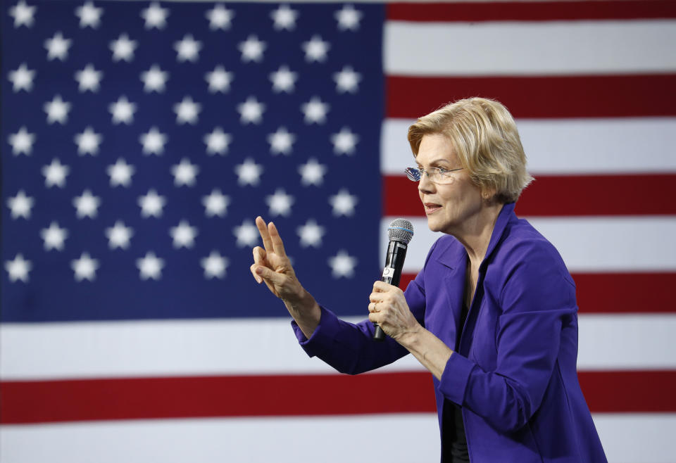
<path fill-rule="evenodd" d="M 676 412 L 676 371 L 579 376 L 592 412 Z M 1 424 L 435 410 L 427 372 L 4 381 L 0 387 Z"/>

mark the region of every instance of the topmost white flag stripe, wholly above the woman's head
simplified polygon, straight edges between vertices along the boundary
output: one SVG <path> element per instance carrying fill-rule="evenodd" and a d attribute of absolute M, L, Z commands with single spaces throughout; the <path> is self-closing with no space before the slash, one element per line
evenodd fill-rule
<path fill-rule="evenodd" d="M 389 75 L 575 75 L 676 70 L 676 21 L 385 24 Z M 649 51 L 646 53 L 646 51 Z"/>

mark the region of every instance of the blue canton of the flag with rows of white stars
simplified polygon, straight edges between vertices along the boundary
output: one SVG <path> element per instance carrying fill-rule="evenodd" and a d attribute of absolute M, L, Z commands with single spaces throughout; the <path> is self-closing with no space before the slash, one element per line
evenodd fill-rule
<path fill-rule="evenodd" d="M 284 316 L 249 272 L 256 215 L 320 303 L 365 314 L 383 18 L 4 2 L 1 320 Z"/>

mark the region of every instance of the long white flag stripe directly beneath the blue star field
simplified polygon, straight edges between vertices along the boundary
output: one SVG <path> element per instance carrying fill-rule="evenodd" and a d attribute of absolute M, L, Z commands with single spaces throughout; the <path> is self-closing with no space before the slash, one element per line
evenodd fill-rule
<path fill-rule="evenodd" d="M 280 310 L 284 310 L 281 304 Z M 578 367 L 675 369 L 673 333 L 676 315 L 672 314 L 582 314 Z M 275 348 L 251 348 L 246 355 L 232 355 L 261 338 Z M 423 371 L 423 367 L 407 355 L 378 371 Z M 334 370 L 308 358 L 283 319 L 6 324 L 0 328 L 4 380 L 308 373 Z"/>

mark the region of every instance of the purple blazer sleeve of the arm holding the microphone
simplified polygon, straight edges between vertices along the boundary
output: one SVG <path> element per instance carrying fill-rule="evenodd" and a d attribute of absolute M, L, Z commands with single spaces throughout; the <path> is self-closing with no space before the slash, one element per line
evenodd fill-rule
<path fill-rule="evenodd" d="M 576 317 L 575 284 L 549 243 L 513 250 L 500 293 L 496 369 L 453 353 L 439 382 L 449 400 L 495 429 L 520 429 L 538 410 L 556 365 L 563 325 Z"/>

